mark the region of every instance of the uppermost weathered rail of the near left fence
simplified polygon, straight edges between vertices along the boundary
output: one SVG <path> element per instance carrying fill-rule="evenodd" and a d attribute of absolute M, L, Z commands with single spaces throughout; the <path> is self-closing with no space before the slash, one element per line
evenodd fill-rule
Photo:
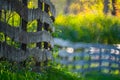
<path fill-rule="evenodd" d="M 3 2 L 3 3 L 2 3 Z M 33 21 L 35 19 L 40 19 L 42 22 L 49 24 L 52 27 L 52 19 L 48 15 L 48 13 L 43 12 L 40 8 L 37 9 L 28 9 L 27 6 L 24 6 L 18 0 L 0 0 L 0 10 L 8 10 L 8 7 L 11 7 L 13 11 L 16 11 L 24 20 Z"/>

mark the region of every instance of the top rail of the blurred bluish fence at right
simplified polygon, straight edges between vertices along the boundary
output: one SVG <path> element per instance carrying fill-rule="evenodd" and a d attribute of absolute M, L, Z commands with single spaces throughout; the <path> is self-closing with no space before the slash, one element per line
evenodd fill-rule
<path fill-rule="evenodd" d="M 70 41 L 66 41 L 66 40 L 62 40 L 59 38 L 54 38 L 54 42 L 56 45 L 60 46 L 60 47 L 71 47 L 73 49 L 80 49 L 80 48 L 99 48 L 99 49 L 115 49 L 120 51 L 120 49 L 118 49 L 116 46 L 114 45 L 105 45 L 105 44 L 98 44 L 98 43 L 73 43 Z"/>

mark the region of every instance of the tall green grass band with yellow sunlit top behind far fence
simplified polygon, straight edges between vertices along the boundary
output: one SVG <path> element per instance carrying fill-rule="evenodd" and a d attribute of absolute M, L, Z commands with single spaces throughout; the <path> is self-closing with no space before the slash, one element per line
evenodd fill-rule
<path fill-rule="evenodd" d="M 120 20 L 114 16 L 87 13 L 59 15 L 55 26 L 57 34 L 55 37 L 74 42 L 120 43 Z"/>

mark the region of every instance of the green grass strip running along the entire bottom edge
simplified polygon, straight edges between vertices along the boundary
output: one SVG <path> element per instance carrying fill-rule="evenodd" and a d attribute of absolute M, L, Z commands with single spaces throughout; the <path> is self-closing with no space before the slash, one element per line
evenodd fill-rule
<path fill-rule="evenodd" d="M 99 72 L 89 72 L 81 76 L 56 66 L 35 73 L 26 68 L 18 69 L 15 65 L 2 61 L 0 62 L 0 80 L 120 80 L 120 76 Z"/>

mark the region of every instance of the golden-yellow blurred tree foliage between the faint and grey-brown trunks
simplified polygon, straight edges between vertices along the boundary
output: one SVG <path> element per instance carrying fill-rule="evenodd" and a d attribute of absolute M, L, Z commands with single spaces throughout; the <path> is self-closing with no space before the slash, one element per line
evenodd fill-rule
<path fill-rule="evenodd" d="M 103 0 L 74 0 L 69 6 L 70 13 L 78 14 L 81 12 L 91 12 L 96 13 L 102 12 L 103 10 Z"/>

